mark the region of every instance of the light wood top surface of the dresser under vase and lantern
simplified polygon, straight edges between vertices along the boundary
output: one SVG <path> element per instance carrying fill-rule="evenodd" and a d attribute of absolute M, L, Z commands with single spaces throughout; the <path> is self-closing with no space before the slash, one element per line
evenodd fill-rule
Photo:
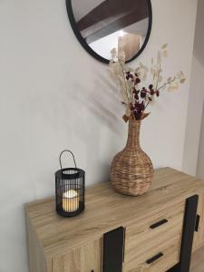
<path fill-rule="evenodd" d="M 54 198 L 25 205 L 26 216 L 48 257 L 61 254 L 113 228 L 125 227 L 204 190 L 204 181 L 178 170 L 155 170 L 148 192 L 140 197 L 116 193 L 110 182 L 86 188 L 85 211 L 75 218 L 60 217 Z"/>

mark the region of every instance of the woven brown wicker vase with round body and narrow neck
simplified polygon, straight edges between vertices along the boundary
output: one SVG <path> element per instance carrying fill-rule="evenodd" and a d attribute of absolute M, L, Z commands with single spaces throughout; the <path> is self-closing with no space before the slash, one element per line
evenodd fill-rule
<path fill-rule="evenodd" d="M 129 121 L 127 144 L 112 160 L 112 186 L 121 194 L 142 195 L 151 185 L 153 166 L 151 159 L 141 150 L 140 130 L 141 121 Z"/>

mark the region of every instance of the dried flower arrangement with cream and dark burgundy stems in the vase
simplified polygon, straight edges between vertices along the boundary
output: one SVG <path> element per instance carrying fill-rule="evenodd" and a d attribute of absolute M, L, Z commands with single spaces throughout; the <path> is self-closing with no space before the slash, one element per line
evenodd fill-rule
<path fill-rule="evenodd" d="M 155 97 L 160 96 L 161 91 L 175 91 L 179 89 L 181 83 L 185 83 L 185 77 L 181 71 L 162 83 L 161 63 L 168 56 L 167 47 L 168 44 L 164 44 L 157 53 L 157 59 L 151 59 L 150 69 L 143 63 L 140 63 L 136 69 L 132 69 L 125 63 L 125 53 L 120 50 L 117 53 L 115 48 L 112 49 L 112 60 L 109 66 L 121 85 L 121 103 L 126 109 L 122 117 L 124 121 L 141 121 L 150 114 L 145 113 L 145 110 Z M 152 75 L 152 83 L 144 87 L 142 83 L 146 82 L 149 72 Z"/>

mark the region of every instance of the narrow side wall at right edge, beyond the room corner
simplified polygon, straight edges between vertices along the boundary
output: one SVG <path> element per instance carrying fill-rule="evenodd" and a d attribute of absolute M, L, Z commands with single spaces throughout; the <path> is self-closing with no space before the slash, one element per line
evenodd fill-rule
<path fill-rule="evenodd" d="M 204 1 L 199 0 L 195 29 L 195 40 L 193 48 L 192 69 L 190 77 L 190 92 L 188 118 L 185 137 L 185 148 L 183 153 L 183 170 L 191 175 L 197 175 L 197 164 L 199 163 L 198 176 L 204 179 L 202 149 L 204 144 L 200 139 L 200 128 L 202 122 L 202 111 L 204 102 Z M 199 161 L 198 161 L 199 156 Z M 203 173 L 203 175 L 201 174 Z"/>

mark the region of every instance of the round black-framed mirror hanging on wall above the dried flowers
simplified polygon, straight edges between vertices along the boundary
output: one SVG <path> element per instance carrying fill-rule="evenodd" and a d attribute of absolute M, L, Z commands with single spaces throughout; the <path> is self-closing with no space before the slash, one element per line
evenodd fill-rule
<path fill-rule="evenodd" d="M 102 63 L 112 48 L 121 49 L 129 63 L 139 56 L 151 34 L 151 0 L 66 0 L 73 32 Z"/>

